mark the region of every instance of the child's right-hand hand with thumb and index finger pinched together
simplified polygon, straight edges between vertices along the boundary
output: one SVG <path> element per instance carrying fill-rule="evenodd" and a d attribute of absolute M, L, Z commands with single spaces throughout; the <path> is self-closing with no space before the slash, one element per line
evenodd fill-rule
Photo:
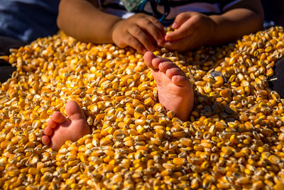
<path fill-rule="evenodd" d="M 165 36 L 164 47 L 173 51 L 199 48 L 214 37 L 214 21 L 204 14 L 185 12 L 175 18 L 175 31 Z"/>

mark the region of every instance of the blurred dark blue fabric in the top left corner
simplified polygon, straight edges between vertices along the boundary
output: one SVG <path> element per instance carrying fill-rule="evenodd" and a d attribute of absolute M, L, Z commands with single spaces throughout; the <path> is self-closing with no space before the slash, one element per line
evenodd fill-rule
<path fill-rule="evenodd" d="M 0 0 L 0 36 L 34 41 L 58 31 L 60 0 Z"/>

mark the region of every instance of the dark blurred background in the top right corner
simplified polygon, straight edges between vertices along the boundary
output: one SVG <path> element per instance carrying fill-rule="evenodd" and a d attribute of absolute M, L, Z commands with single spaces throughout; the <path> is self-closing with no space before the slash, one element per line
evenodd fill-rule
<path fill-rule="evenodd" d="M 284 26 L 284 0 L 261 0 L 265 21 L 274 21 L 276 26 Z"/>

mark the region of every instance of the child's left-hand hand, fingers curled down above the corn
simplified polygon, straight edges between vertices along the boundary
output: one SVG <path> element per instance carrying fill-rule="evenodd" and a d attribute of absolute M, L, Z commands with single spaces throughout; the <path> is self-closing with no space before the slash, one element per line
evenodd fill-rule
<path fill-rule="evenodd" d="M 131 46 L 145 53 L 154 51 L 157 44 L 163 44 L 164 36 L 165 29 L 157 19 L 146 14 L 135 14 L 116 22 L 111 37 L 119 48 Z"/>

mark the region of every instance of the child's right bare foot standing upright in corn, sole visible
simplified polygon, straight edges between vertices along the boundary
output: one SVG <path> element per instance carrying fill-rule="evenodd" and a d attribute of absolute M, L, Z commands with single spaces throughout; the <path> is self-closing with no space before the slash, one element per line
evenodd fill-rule
<path fill-rule="evenodd" d="M 167 58 L 158 58 L 151 52 L 144 54 L 146 65 L 153 70 L 157 83 L 159 102 L 186 121 L 193 108 L 194 95 L 190 81 L 175 63 Z"/>

